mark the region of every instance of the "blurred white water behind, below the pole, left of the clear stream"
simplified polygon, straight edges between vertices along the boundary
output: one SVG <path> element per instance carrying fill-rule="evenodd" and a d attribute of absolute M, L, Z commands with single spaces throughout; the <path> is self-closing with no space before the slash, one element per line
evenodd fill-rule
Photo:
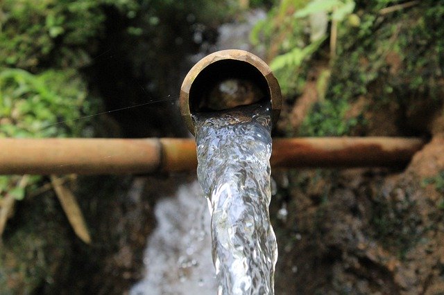
<path fill-rule="evenodd" d="M 157 226 L 148 240 L 146 276 L 130 295 L 214 295 L 210 217 L 197 181 L 180 186 L 155 206 Z M 210 270 L 210 271 L 209 271 Z"/>

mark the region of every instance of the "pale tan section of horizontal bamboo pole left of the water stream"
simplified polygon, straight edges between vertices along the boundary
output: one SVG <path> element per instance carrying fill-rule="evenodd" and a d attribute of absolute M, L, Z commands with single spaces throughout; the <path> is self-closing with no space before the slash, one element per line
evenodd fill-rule
<path fill-rule="evenodd" d="M 2 138 L 0 174 L 138 174 L 196 167 L 196 145 L 174 138 Z"/>

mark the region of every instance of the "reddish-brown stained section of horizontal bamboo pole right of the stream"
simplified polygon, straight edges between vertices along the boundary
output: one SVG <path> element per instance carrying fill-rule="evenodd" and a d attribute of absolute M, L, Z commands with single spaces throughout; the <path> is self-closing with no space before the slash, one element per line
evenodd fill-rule
<path fill-rule="evenodd" d="M 390 167 L 409 163 L 419 138 L 324 137 L 273 141 L 271 166 L 284 168 Z"/>

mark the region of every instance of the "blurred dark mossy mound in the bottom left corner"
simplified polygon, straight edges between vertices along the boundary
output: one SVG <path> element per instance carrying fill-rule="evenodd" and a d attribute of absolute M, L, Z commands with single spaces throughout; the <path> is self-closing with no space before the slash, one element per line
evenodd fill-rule
<path fill-rule="evenodd" d="M 21 202 L 17 215 L 0 244 L 0 289 L 9 294 L 50 292 L 69 267 L 64 217 L 51 195 Z"/>

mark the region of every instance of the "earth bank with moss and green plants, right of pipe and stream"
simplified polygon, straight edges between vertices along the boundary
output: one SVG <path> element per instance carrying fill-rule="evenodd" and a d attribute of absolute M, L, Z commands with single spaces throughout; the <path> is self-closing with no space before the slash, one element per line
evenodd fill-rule
<path fill-rule="evenodd" d="M 443 8 L 280 1 L 253 31 L 285 97 L 277 134 L 432 138 L 405 169 L 273 172 L 278 294 L 443 292 Z"/>

